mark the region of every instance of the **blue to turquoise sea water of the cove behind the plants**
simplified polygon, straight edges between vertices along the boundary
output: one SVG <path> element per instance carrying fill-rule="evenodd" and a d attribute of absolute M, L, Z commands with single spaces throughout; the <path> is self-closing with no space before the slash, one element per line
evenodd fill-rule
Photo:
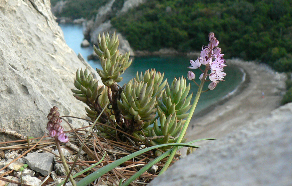
<path fill-rule="evenodd" d="M 87 59 L 87 56 L 92 54 L 93 47 L 81 48 L 80 44 L 83 40 L 82 34 L 82 26 L 74 25 L 74 24 L 60 24 L 64 32 L 64 37 L 66 43 L 69 47 L 71 47 L 76 54 L 81 53 L 84 59 Z M 204 44 L 204 43 L 203 43 Z M 203 45 L 202 44 L 202 45 Z M 223 49 L 224 50 L 224 49 Z M 173 78 L 179 78 L 182 75 L 187 77 L 187 71 L 189 70 L 187 66 L 190 66 L 190 59 L 187 57 L 177 56 L 177 57 L 135 57 L 133 59 L 132 65 L 125 71 L 122 75 L 123 81 L 120 83 L 122 86 L 124 83 L 127 83 L 130 79 L 132 79 L 137 71 L 145 72 L 147 69 L 155 68 L 157 71 L 161 73 L 165 73 L 165 78 L 168 79 L 168 83 L 171 84 Z M 88 63 L 95 69 L 101 69 L 99 61 L 88 61 Z M 77 69 L 76 69 L 77 70 Z M 193 70 L 196 74 L 196 79 L 199 79 L 201 74 L 200 70 Z M 226 95 L 232 93 L 234 89 L 237 88 L 238 84 L 242 81 L 243 72 L 239 70 L 236 66 L 228 65 L 225 67 L 224 72 L 227 74 L 225 76 L 225 81 L 220 82 L 217 87 L 213 91 L 208 91 L 206 93 L 202 93 L 200 100 L 198 102 L 195 113 L 198 113 L 202 109 L 207 108 L 208 106 L 214 104 L 219 101 Z M 193 98 L 197 93 L 197 86 L 191 81 L 187 80 L 188 83 L 191 83 L 191 91 L 193 92 Z M 197 81 L 199 83 L 199 81 Z M 208 87 L 208 82 L 204 85 L 204 89 L 206 90 Z"/>

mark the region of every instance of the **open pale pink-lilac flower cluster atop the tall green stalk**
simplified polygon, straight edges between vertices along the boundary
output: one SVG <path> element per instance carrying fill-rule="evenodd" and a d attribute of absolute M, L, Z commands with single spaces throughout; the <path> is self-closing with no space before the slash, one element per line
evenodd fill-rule
<path fill-rule="evenodd" d="M 197 69 L 201 65 L 206 65 L 207 70 L 211 70 L 208 75 L 211 83 L 208 85 L 210 90 L 213 90 L 219 81 L 224 81 L 223 77 L 226 75 L 223 71 L 225 65 L 225 59 L 223 59 L 224 54 L 221 54 L 221 49 L 218 46 L 219 41 L 215 38 L 214 33 L 209 33 L 209 44 L 208 46 L 202 47 L 201 56 L 197 60 L 190 60 L 191 66 L 189 69 Z M 189 71 L 188 79 L 192 79 L 194 76 Z M 202 81 L 203 74 L 199 77 Z"/>

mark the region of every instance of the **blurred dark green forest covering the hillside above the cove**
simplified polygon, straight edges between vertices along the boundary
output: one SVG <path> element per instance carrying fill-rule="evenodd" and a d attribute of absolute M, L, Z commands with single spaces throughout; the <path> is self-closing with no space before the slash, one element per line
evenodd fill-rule
<path fill-rule="evenodd" d="M 105 1 L 68 0 L 71 8 L 62 16 L 90 18 Z M 113 16 L 111 22 L 135 50 L 199 51 L 212 31 L 226 59 L 259 60 L 277 71 L 291 72 L 291 16 L 288 0 L 152 0 Z"/>

